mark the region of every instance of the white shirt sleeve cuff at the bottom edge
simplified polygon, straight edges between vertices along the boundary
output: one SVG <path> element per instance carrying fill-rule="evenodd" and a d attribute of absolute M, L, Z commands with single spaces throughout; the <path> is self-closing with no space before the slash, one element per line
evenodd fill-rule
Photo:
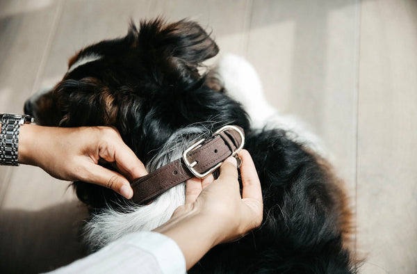
<path fill-rule="evenodd" d="M 177 243 L 156 232 L 128 234 L 92 255 L 50 273 L 186 273 Z"/>

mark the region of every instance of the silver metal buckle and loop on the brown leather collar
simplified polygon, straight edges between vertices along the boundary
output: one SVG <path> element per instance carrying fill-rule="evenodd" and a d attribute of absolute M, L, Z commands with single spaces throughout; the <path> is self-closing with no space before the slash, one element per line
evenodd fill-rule
<path fill-rule="evenodd" d="M 243 148 L 243 145 L 245 145 L 245 135 L 243 134 L 242 131 L 240 131 L 240 129 L 238 129 L 237 127 L 231 126 L 231 125 L 227 125 L 227 126 L 222 127 L 221 129 L 219 129 L 218 131 L 215 131 L 213 136 L 216 136 L 216 135 L 218 135 L 218 134 L 220 134 L 223 131 L 226 131 L 228 129 L 233 129 L 234 131 L 238 131 L 238 134 L 240 135 L 240 138 L 242 139 L 242 143 L 240 143 L 240 146 L 238 148 L 236 148 L 236 150 L 234 152 L 231 153 L 231 156 L 237 157 L 238 152 L 240 152 L 240 150 L 242 150 L 242 148 Z M 184 150 L 183 154 L 182 154 L 183 161 L 184 161 L 184 163 L 186 163 L 186 166 L 187 166 L 188 170 L 190 170 L 190 172 L 192 172 L 193 175 L 195 175 L 195 177 L 198 177 L 199 179 L 203 179 L 203 178 L 207 177 L 214 170 L 220 168 L 220 166 L 222 166 L 222 163 L 223 163 L 223 162 L 218 163 L 217 165 L 213 166 L 213 168 L 210 168 L 209 170 L 207 170 L 204 173 L 199 173 L 199 172 L 197 172 L 197 170 L 194 169 L 195 165 L 197 165 L 197 161 L 194 161 L 193 163 L 190 163 L 190 161 L 188 161 L 188 159 L 187 159 L 187 154 L 188 154 L 188 152 L 190 152 L 192 150 L 195 150 L 197 147 L 199 147 L 201 145 L 201 143 L 204 142 L 204 140 L 206 140 L 206 139 L 201 139 L 197 143 L 194 143 L 193 145 L 188 147 L 186 150 Z"/>

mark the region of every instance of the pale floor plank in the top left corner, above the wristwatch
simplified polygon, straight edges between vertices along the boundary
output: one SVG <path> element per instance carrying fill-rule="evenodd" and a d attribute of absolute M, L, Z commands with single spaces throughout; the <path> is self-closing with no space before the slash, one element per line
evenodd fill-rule
<path fill-rule="evenodd" d="M 0 111 L 22 113 L 31 95 L 57 3 L 1 1 L 0 12 Z"/>

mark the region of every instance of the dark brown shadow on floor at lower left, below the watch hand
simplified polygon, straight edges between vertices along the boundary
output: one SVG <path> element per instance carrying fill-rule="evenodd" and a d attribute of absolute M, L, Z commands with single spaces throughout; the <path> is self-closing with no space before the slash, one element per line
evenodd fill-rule
<path fill-rule="evenodd" d="M 78 201 L 41 211 L 0 211 L 2 273 L 40 273 L 85 256 L 79 241 L 88 211 Z"/>

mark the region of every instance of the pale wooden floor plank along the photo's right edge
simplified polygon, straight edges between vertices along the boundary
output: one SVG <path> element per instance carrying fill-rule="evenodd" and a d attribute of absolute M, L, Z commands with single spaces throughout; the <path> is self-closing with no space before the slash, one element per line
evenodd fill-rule
<path fill-rule="evenodd" d="M 357 246 L 363 273 L 417 273 L 417 3 L 361 17 Z"/>

